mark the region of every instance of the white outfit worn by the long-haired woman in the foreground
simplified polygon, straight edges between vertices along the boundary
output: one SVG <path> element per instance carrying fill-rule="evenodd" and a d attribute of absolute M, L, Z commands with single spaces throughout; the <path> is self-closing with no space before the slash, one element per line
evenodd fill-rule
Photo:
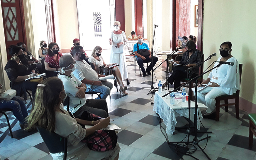
<path fill-rule="evenodd" d="M 87 143 L 81 142 L 85 137 L 86 130 L 77 124 L 76 120 L 62 107 L 61 104 L 60 109 L 65 112 L 65 114 L 61 112 L 55 113 L 55 133 L 68 138 L 67 160 L 113 160 L 117 156 L 120 151 L 118 143 L 113 150 L 99 152 L 90 150 L 87 147 Z M 53 160 L 63 159 L 63 152 L 50 154 Z"/>

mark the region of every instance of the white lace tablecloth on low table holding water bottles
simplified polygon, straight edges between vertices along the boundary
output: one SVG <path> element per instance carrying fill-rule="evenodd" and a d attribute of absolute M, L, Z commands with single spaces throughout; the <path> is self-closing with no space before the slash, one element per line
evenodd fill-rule
<path fill-rule="evenodd" d="M 166 125 L 166 133 L 172 134 L 174 132 L 175 125 L 177 124 L 176 116 L 184 116 L 188 118 L 188 101 L 182 102 L 181 99 L 178 99 L 178 102 L 181 102 L 180 106 L 173 106 L 170 103 L 170 95 L 167 95 L 166 97 L 162 97 L 164 93 L 155 93 L 154 98 L 154 108 L 153 111 L 155 111 L 157 114 L 160 115 L 160 118 L 163 119 L 163 123 Z M 194 114 L 195 114 L 195 102 L 191 101 L 191 121 L 194 122 Z M 202 103 L 198 103 L 199 107 L 206 107 Z M 202 119 L 202 114 L 199 109 L 199 114 L 197 114 L 197 129 L 200 129 L 200 119 Z"/>

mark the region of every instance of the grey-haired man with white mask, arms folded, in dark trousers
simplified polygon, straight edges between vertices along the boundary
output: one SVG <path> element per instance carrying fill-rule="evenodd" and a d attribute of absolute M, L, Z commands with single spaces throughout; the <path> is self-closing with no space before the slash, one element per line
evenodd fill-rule
<path fill-rule="evenodd" d="M 105 99 L 86 99 L 86 85 L 78 80 L 72 72 L 75 69 L 75 60 L 72 55 L 63 55 L 59 59 L 61 69 L 58 78 L 62 80 L 65 92 L 69 96 L 69 110 L 76 118 L 87 117 L 85 111 L 106 118 L 109 116 Z"/>

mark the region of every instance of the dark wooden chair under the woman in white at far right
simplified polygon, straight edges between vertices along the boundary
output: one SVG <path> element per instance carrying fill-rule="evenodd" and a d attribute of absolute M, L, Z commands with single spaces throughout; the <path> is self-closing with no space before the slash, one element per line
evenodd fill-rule
<path fill-rule="evenodd" d="M 241 76 L 242 76 L 242 68 L 243 64 L 239 64 L 239 83 L 241 84 Z M 225 106 L 225 111 L 228 112 L 228 106 L 235 105 L 236 107 L 236 117 L 239 119 L 239 94 L 240 90 L 237 90 L 236 93 L 232 95 L 222 95 L 215 98 L 216 100 L 216 121 L 219 121 L 219 108 Z M 235 99 L 234 103 L 228 103 L 228 99 Z M 221 105 L 220 101 L 224 100 L 225 104 Z"/>

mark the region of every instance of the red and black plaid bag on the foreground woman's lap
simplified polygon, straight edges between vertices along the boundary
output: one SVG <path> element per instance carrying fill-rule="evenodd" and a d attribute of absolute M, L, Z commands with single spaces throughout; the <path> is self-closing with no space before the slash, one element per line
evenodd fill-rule
<path fill-rule="evenodd" d="M 90 150 L 109 151 L 116 147 L 117 136 L 113 130 L 96 130 L 94 134 L 82 140 Z"/>

